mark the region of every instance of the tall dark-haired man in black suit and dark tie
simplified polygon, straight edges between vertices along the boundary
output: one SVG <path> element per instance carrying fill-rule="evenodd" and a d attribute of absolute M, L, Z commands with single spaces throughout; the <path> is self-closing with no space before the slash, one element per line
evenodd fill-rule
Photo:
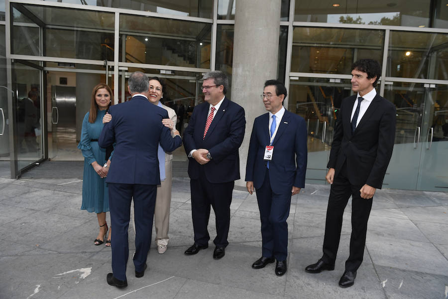
<path fill-rule="evenodd" d="M 376 93 L 381 74 L 378 61 L 360 59 L 351 67 L 351 89 L 356 95 L 342 101 L 336 120 L 326 179 L 332 184 L 325 224 L 324 254 L 305 271 L 334 270 L 342 214 L 352 196 L 350 255 L 339 286 L 354 284 L 362 263 L 367 221 L 373 195 L 381 185 L 395 139 L 395 106 Z"/>

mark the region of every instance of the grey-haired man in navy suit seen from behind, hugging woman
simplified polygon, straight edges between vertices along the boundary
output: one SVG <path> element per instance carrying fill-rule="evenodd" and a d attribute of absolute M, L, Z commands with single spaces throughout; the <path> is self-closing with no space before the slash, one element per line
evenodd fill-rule
<path fill-rule="evenodd" d="M 127 287 L 126 264 L 129 254 L 127 229 L 131 200 L 135 213 L 135 277 L 143 277 L 151 244 L 152 221 L 160 184 L 157 149 L 173 151 L 182 145 L 178 131 L 174 138 L 162 124 L 168 118 L 165 109 L 148 101 L 148 77 L 142 72 L 129 76 L 132 98 L 109 108 L 112 120 L 105 124 L 98 140 L 100 147 L 115 143 L 111 169 L 106 182 L 112 222 L 112 272 L 107 282 L 117 288 Z"/>

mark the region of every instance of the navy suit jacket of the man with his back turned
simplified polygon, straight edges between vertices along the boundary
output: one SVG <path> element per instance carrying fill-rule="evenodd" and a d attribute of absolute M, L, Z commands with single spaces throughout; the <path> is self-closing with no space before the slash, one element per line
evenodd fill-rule
<path fill-rule="evenodd" d="M 108 183 L 160 184 L 157 148 L 160 142 L 165 151 L 182 145 L 180 136 L 173 138 L 162 125 L 168 118 L 165 109 L 151 104 L 145 97 L 111 106 L 112 121 L 105 124 L 98 143 L 107 148 L 115 143 Z"/>

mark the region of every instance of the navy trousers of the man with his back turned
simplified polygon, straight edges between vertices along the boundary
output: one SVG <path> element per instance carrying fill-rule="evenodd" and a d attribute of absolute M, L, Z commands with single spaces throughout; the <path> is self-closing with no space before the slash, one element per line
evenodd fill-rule
<path fill-rule="evenodd" d="M 130 204 L 134 200 L 135 215 L 135 271 L 143 271 L 151 245 L 152 220 L 157 185 L 108 183 L 112 227 L 112 272 L 118 280 L 126 280 L 129 256 L 127 229 Z"/>

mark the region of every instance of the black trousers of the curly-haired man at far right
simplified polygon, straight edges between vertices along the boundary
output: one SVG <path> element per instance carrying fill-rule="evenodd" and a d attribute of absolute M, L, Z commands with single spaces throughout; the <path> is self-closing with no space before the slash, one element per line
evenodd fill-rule
<path fill-rule="evenodd" d="M 361 266 L 364 255 L 367 221 L 372 208 L 372 198 L 361 198 L 359 189 L 361 189 L 363 184 L 350 184 L 346 171 L 344 164 L 341 171 L 334 178 L 330 189 L 322 260 L 326 263 L 335 263 L 342 228 L 342 215 L 351 195 L 350 255 L 345 262 L 345 270 L 356 271 Z"/>

